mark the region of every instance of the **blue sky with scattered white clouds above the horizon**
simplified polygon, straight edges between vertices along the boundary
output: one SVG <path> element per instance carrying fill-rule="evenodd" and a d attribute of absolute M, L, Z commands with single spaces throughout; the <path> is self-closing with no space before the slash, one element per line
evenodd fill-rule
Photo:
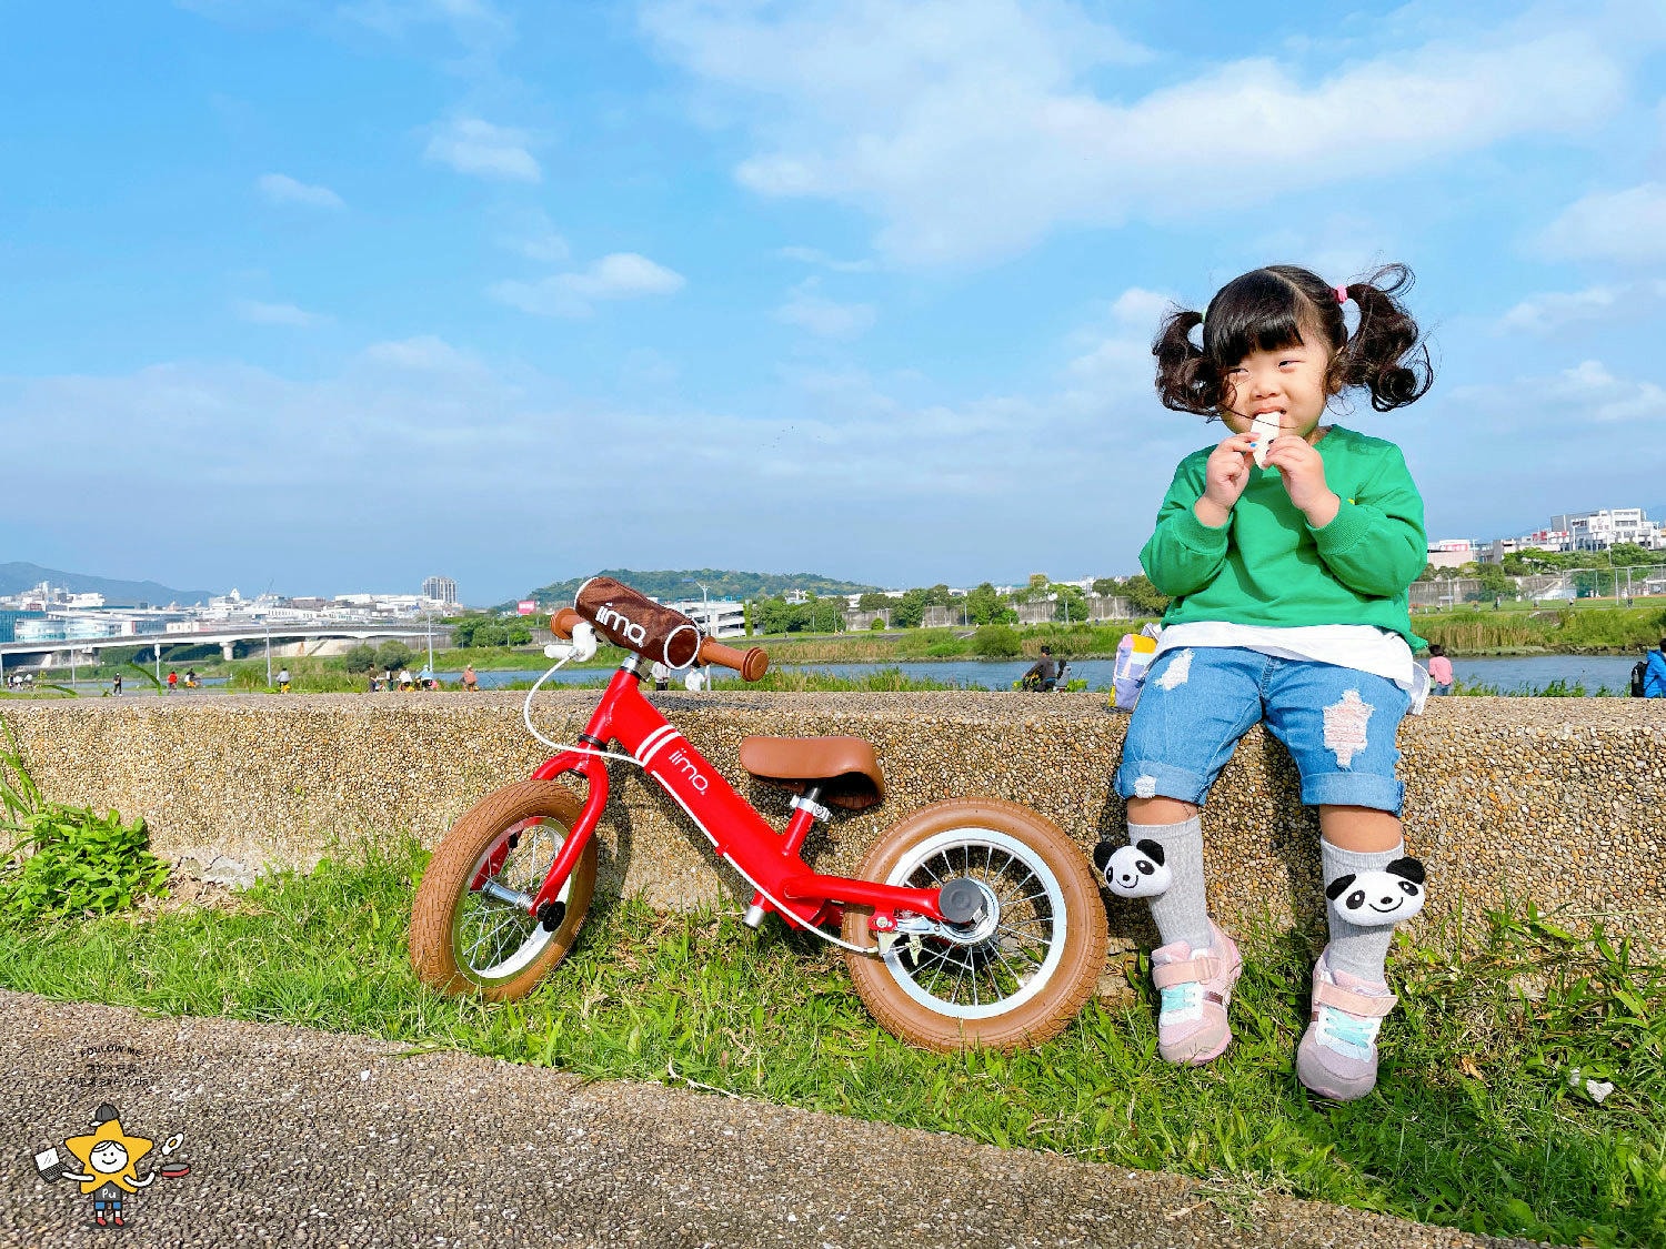
<path fill-rule="evenodd" d="M 1258 12 L 1259 10 L 1259 12 Z M 0 12 L 3 558 L 500 601 L 1136 568 L 1170 301 L 1401 260 L 1431 536 L 1666 508 L 1666 8 Z"/>

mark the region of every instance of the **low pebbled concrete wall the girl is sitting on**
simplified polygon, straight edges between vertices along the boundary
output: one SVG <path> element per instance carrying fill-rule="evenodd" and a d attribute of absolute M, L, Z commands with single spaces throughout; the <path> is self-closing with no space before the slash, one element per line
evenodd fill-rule
<path fill-rule="evenodd" d="M 851 871 L 891 821 L 940 798 L 1028 803 L 1083 849 L 1120 834 L 1110 791 L 1126 718 L 1103 694 L 655 696 L 765 814 L 785 796 L 740 773 L 746 733 L 870 738 L 888 801 L 835 818 L 808 854 Z M 571 739 L 595 693 L 540 696 L 538 721 Z M 520 694 L 173 696 L 17 701 L 17 733 L 50 796 L 150 821 L 157 853 L 195 873 L 308 866 L 337 843 L 412 829 L 431 843 L 543 758 Z M 1431 699 L 1399 734 L 1406 834 L 1429 866 L 1434 916 L 1533 899 L 1569 923 L 1666 939 L 1666 701 Z M 618 766 L 601 831 L 603 888 L 663 906 L 743 904 L 703 836 L 641 773 Z M 1213 904 L 1223 916 L 1318 923 L 1318 826 L 1288 754 L 1253 729 L 1205 813 Z M 1113 934 L 1145 941 L 1143 904 L 1111 903 Z"/>

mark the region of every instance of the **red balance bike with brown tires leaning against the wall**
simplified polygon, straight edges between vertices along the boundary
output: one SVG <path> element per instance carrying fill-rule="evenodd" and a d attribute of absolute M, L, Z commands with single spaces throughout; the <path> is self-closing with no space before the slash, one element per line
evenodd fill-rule
<path fill-rule="evenodd" d="M 776 831 L 638 688 L 645 658 L 720 664 L 756 681 L 768 656 L 703 638 L 681 613 L 610 578 L 586 581 L 575 608 L 551 620 L 555 634 L 571 639 L 548 648 L 551 658 L 588 658 L 598 634 L 631 654 L 576 743 L 548 743 L 560 753 L 530 781 L 488 794 L 440 843 L 412 914 L 412 963 L 423 981 L 506 1001 L 566 956 L 595 889 L 608 766 L 628 763 L 753 888 L 745 923 L 756 928 L 773 913 L 841 946 L 856 993 L 905 1041 L 1008 1049 L 1045 1041 L 1075 1018 L 1105 963 L 1106 926 L 1086 858 L 1055 824 L 1015 803 L 936 803 L 886 829 L 858 876 L 820 874 L 800 854 L 813 823 L 830 818 L 828 806 L 861 809 L 885 798 L 873 746 L 745 738 L 741 766 L 795 791 Z M 535 693 L 526 728 L 546 741 L 531 724 Z M 583 796 L 558 778 L 585 781 Z"/>

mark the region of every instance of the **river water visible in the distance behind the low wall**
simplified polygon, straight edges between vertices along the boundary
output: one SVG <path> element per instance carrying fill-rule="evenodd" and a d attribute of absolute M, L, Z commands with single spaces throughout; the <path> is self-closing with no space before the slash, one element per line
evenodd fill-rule
<path fill-rule="evenodd" d="M 1521 654 L 1498 659 L 1453 659 L 1453 673 L 1464 684 L 1488 684 L 1501 693 L 1521 693 L 1524 689 L 1543 689 L 1553 681 L 1566 684 L 1583 684 L 1586 694 L 1596 694 L 1606 688 L 1611 694 L 1623 694 L 1631 681 L 1631 664 L 1638 656 L 1628 654 Z M 785 671 L 815 671 L 830 676 L 856 679 L 886 668 L 901 669 L 905 676 L 915 679 L 958 684 L 963 689 L 1010 689 L 1013 681 L 1030 668 L 1028 659 L 935 659 L 906 663 L 815 663 L 785 664 Z M 721 669 L 715 669 L 720 684 L 740 681 Z M 541 668 L 498 668 L 476 669 L 481 689 L 500 689 L 513 681 L 535 681 L 543 676 Z M 456 684 L 461 671 L 440 671 L 440 679 Z M 606 684 L 611 669 L 578 668 L 555 673 L 545 684 Z M 1110 659 L 1073 659 L 1070 676 L 1086 681 L 1090 689 L 1110 689 Z M 222 684 L 223 678 L 207 678 L 203 684 Z M 63 679 L 62 684 L 68 684 Z M 80 694 L 98 696 L 110 689 L 108 681 L 77 681 Z M 127 694 L 153 694 L 148 683 L 128 678 Z M 182 689 L 177 696 L 192 696 L 198 691 Z"/>

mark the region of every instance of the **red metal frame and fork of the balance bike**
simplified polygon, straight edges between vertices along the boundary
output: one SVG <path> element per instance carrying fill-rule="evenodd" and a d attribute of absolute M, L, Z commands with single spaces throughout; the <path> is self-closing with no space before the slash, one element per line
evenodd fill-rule
<path fill-rule="evenodd" d="M 753 899 L 756 906 L 775 911 L 788 924 L 808 928 L 823 938 L 828 934 L 821 933 L 820 926 L 838 923 L 845 906 L 873 908 L 868 923 L 875 933 L 895 931 L 898 913 L 921 914 L 943 923 L 938 889 L 911 889 L 811 871 L 798 853 L 815 821 L 810 808 L 796 806 L 783 831 L 771 828 L 660 714 L 658 708 L 643 698 L 640 679 L 636 659 L 631 656 L 608 681 L 581 741 L 596 751 L 606 741 L 618 741 L 688 813 L 695 828 L 711 841 L 718 858 L 758 891 Z M 568 773 L 585 778 L 590 791 L 583 811 L 545 874 L 543 888 L 528 908 L 531 914 L 540 914 L 543 906 L 556 901 L 608 804 L 608 764 L 600 754 L 563 751 L 533 771 L 533 779 L 551 781 Z"/>

